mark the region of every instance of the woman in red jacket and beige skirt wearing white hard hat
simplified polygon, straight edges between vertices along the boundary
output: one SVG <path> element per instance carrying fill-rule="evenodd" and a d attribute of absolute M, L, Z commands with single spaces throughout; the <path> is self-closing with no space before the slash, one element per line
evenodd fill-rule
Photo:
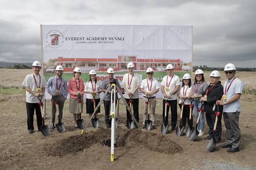
<path fill-rule="evenodd" d="M 81 70 L 76 67 L 73 71 L 74 78 L 70 79 L 67 89 L 70 93 L 70 113 L 74 116 L 75 127 L 78 128 L 77 120 L 81 119 L 83 111 L 84 84 L 81 77 Z M 79 108 L 80 103 L 80 108 Z"/>

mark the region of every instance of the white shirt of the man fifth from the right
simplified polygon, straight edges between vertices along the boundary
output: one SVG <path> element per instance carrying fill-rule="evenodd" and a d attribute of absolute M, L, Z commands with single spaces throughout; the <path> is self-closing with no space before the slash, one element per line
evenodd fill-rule
<path fill-rule="evenodd" d="M 172 79 L 172 77 L 173 77 L 173 79 Z M 168 82 L 167 82 L 167 79 L 168 79 Z M 170 82 L 171 79 L 172 79 L 172 81 Z M 168 88 L 169 88 L 169 91 L 166 91 L 166 87 L 167 87 L 167 86 L 166 86 L 166 82 L 167 82 L 167 86 L 168 86 Z M 166 94 L 167 94 L 167 93 L 171 93 L 172 91 L 175 90 L 175 88 L 176 88 L 177 85 L 180 85 L 180 79 L 179 79 L 179 77 L 178 77 L 177 75 L 175 75 L 175 74 L 173 74 L 173 75 L 171 75 L 171 76 L 165 75 L 165 77 L 163 78 L 163 80 L 162 80 L 162 82 L 161 82 L 161 85 L 164 86 L 164 91 L 165 91 Z M 164 97 L 163 97 L 163 99 L 164 99 Z M 176 92 L 176 93 L 174 93 L 173 96 L 170 97 L 170 99 L 168 99 L 168 100 L 177 100 L 177 99 L 178 99 L 178 96 L 177 96 L 177 92 Z"/>

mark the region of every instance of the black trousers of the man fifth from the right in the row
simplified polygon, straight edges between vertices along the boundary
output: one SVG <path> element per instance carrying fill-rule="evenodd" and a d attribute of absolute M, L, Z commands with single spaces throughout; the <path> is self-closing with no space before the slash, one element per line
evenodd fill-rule
<path fill-rule="evenodd" d="M 177 100 L 167 100 L 167 103 L 169 103 L 169 106 L 166 108 L 166 120 L 168 122 L 168 117 L 169 117 L 169 108 L 171 112 L 171 125 L 172 128 L 176 127 L 177 124 Z M 165 100 L 163 100 L 163 121 L 164 121 L 164 110 L 165 110 Z"/>

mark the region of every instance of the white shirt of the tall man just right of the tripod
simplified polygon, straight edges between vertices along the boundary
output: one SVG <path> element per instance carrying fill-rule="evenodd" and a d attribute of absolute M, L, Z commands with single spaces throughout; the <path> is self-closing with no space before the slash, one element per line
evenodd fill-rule
<path fill-rule="evenodd" d="M 129 84 L 130 84 L 130 89 L 128 89 L 128 75 L 129 75 Z M 133 73 L 133 77 L 132 74 L 127 73 L 124 75 L 123 77 L 123 81 L 122 81 L 123 85 L 130 90 L 131 92 L 134 91 L 134 89 L 140 85 L 140 78 L 139 75 L 137 73 Z M 124 97 L 126 99 L 130 99 L 130 97 L 127 95 L 127 93 L 125 92 Z M 132 99 L 138 99 L 139 98 L 139 88 L 138 90 L 136 90 L 132 96 Z"/>

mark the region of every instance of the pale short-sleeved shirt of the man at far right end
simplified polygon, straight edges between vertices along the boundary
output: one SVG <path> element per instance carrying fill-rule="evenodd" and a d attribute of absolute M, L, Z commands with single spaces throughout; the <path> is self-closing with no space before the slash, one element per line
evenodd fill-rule
<path fill-rule="evenodd" d="M 225 93 L 225 89 L 228 89 L 232 80 L 233 79 L 228 80 L 227 82 L 224 83 L 224 86 L 223 86 L 224 93 Z M 226 94 L 227 100 L 232 99 L 235 96 L 235 94 L 239 94 L 239 93 L 242 94 L 243 87 L 244 87 L 244 83 L 240 79 L 235 78 L 227 91 L 227 94 Z M 223 106 L 223 112 L 236 112 L 236 111 L 241 111 L 241 100 L 240 99 Z"/>

